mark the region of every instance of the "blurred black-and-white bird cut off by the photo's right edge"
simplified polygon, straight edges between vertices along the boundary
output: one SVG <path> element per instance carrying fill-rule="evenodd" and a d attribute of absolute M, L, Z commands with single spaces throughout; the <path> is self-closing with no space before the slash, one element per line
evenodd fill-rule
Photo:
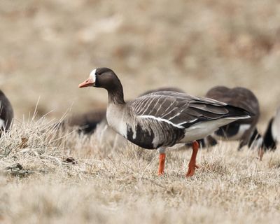
<path fill-rule="evenodd" d="M 263 137 L 263 148 L 267 150 L 275 150 L 280 142 L 280 106 L 276 111 L 274 118 L 269 120 L 267 130 Z"/>

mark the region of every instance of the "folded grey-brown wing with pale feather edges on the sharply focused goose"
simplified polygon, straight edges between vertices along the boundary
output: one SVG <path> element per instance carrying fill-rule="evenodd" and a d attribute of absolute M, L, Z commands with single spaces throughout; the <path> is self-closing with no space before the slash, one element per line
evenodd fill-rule
<path fill-rule="evenodd" d="M 129 103 L 136 116 L 166 120 L 182 128 L 188 124 L 225 117 L 227 104 L 180 92 L 153 92 Z"/>

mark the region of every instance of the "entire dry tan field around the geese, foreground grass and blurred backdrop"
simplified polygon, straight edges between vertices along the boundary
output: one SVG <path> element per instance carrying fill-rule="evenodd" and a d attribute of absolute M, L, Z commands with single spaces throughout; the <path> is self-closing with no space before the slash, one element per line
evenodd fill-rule
<path fill-rule="evenodd" d="M 279 1 L 2 0 L 0 32 L 0 88 L 15 110 L 0 139 L 0 223 L 279 223 L 279 151 L 260 162 L 222 143 L 186 179 L 191 152 L 174 149 L 158 177 L 156 151 L 53 130 L 65 113 L 106 106 L 104 90 L 78 83 L 108 66 L 126 99 L 248 87 L 263 133 L 280 104 Z"/>

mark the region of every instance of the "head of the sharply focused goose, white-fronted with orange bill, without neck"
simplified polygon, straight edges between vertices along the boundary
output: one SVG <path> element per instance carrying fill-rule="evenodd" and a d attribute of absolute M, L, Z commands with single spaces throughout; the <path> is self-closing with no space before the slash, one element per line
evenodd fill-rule
<path fill-rule="evenodd" d="M 116 73 L 109 68 L 93 69 L 90 72 L 90 77 L 83 83 L 80 83 L 78 87 L 102 87 L 106 90 L 114 90 L 120 86 L 120 80 L 116 76 Z"/>

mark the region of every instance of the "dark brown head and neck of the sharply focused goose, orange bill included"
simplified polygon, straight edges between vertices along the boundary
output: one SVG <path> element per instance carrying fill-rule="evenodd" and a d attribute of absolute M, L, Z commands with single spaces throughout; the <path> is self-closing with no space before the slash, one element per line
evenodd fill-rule
<path fill-rule="evenodd" d="M 78 87 L 101 87 L 108 91 L 109 103 L 125 104 L 123 99 L 123 86 L 116 76 L 116 73 L 109 68 L 98 68 L 92 70 L 90 77 L 83 83 L 80 83 Z"/>

